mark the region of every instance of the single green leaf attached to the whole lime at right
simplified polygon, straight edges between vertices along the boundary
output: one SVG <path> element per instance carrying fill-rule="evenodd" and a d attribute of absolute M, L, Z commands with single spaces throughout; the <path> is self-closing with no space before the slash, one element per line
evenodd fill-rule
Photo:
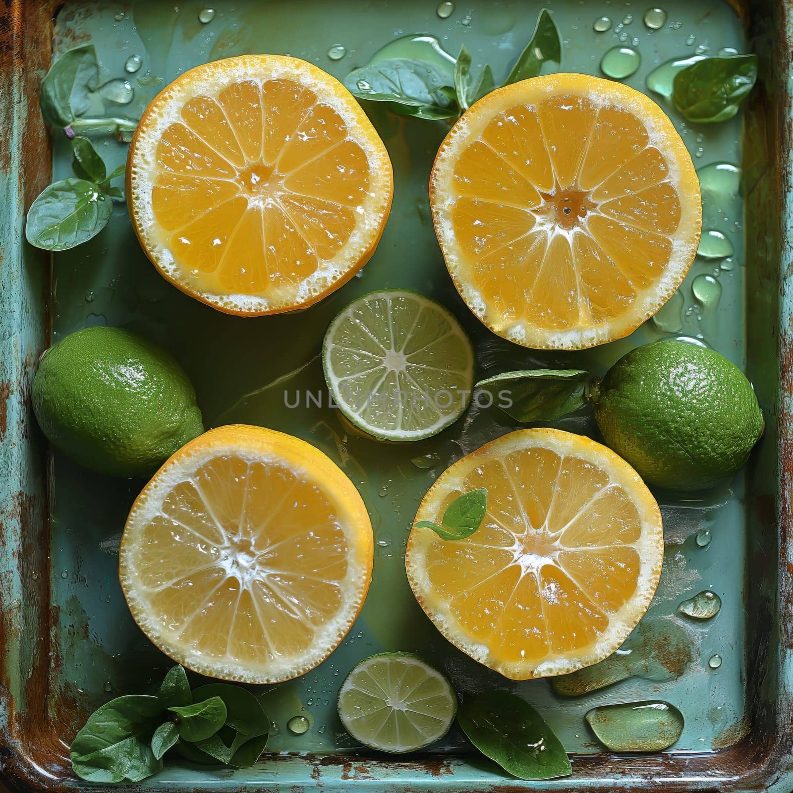
<path fill-rule="evenodd" d="M 580 369 L 534 369 L 504 372 L 477 383 L 496 404 L 518 421 L 552 421 L 586 404 L 587 381 Z"/>

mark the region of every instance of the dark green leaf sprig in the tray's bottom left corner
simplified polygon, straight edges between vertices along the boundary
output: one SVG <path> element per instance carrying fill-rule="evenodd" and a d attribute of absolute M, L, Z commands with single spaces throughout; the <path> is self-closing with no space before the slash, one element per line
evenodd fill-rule
<path fill-rule="evenodd" d="M 155 695 L 117 697 L 94 711 L 72 741 L 71 766 L 90 782 L 140 782 L 159 772 L 174 749 L 194 762 L 247 768 L 269 732 L 270 719 L 254 695 L 228 683 L 190 691 L 176 665 Z"/>

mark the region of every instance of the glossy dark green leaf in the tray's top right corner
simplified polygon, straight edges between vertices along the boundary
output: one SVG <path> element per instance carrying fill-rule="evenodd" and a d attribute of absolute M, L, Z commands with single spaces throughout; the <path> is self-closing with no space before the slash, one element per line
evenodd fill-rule
<path fill-rule="evenodd" d="M 713 124 L 738 112 L 757 82 L 757 56 L 715 56 L 691 63 L 675 75 L 672 104 L 688 121 Z"/>

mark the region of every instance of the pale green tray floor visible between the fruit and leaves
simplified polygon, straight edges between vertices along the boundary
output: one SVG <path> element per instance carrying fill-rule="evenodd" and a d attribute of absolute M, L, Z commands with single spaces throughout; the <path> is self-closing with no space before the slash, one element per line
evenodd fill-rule
<path fill-rule="evenodd" d="M 56 23 L 56 50 L 90 36 L 106 79 L 127 77 L 136 87 L 128 108 L 144 106 L 155 86 L 137 78 L 174 79 L 185 68 L 209 59 L 243 52 L 282 52 L 317 63 L 341 78 L 362 65 L 377 48 L 408 33 L 434 33 L 456 53 L 460 44 L 473 54 L 474 69 L 491 63 L 503 78 L 527 42 L 542 6 L 536 3 L 459 2 L 442 20 L 435 2 L 236 2 L 214 4 L 216 17 L 201 25 L 204 4 L 171 2 L 67 5 Z M 645 4 L 630 2 L 548 2 L 564 40 L 563 68 L 598 74 L 600 57 L 638 37 L 642 67 L 628 79 L 642 89 L 658 63 L 692 54 L 697 44 L 712 52 L 745 48 L 741 25 L 720 0 L 667 2 L 668 24 L 658 32 L 642 24 Z M 626 14 L 634 18 L 623 29 L 595 33 L 592 21 L 607 14 L 615 26 Z M 469 25 L 462 22 L 469 17 Z M 678 29 L 669 23 L 680 21 Z M 695 44 L 688 45 L 688 36 Z M 343 44 L 347 56 L 328 59 L 331 45 Z M 125 75 L 132 54 L 143 58 L 136 75 Z M 667 111 L 671 109 L 664 105 Z M 718 160 L 740 162 L 740 124 L 736 119 L 713 128 L 688 128 L 677 113 L 672 120 L 683 133 L 696 167 Z M 319 446 L 343 467 L 361 489 L 375 533 L 374 580 L 361 617 L 343 645 L 323 665 L 301 680 L 271 690 L 260 688 L 274 720 L 269 749 L 330 752 L 353 749 L 335 715 L 335 695 L 346 672 L 362 657 L 384 649 L 423 653 L 442 664 L 458 691 L 504 687 L 518 691 L 546 716 L 570 752 L 599 751 L 584 722 L 584 713 L 599 703 L 665 699 L 686 719 L 675 751 L 711 749 L 714 740 L 740 722 L 744 713 L 745 510 L 742 477 L 730 488 L 680 502 L 659 494 L 665 516 L 667 553 L 661 587 L 650 613 L 672 615 L 680 601 L 705 588 L 722 598 L 721 613 L 709 623 L 685 626 L 695 648 L 688 672 L 668 684 L 626 681 L 580 699 L 557 699 L 546 680 L 513 684 L 478 665 L 450 646 L 416 605 L 404 574 L 404 544 L 423 493 L 435 477 L 462 454 L 508 431 L 506 416 L 490 410 L 469 411 L 435 439 L 383 446 L 347 435 L 339 412 L 328 408 L 285 408 L 284 390 L 323 389 L 319 359 L 324 329 L 335 313 L 358 294 L 383 287 L 416 289 L 448 306 L 472 335 L 480 376 L 510 368 L 542 364 L 580 366 L 603 371 L 630 347 L 663 338 L 652 323 L 629 339 L 580 354 L 538 354 L 497 339 L 465 308 L 451 285 L 431 228 L 427 178 L 435 151 L 448 129 L 439 122 L 404 120 L 374 109 L 372 118 L 389 148 L 395 176 L 389 224 L 373 259 L 355 278 L 307 312 L 291 316 L 239 319 L 191 300 L 160 278 L 147 261 L 128 222 L 117 207 L 109 227 L 90 243 L 54 257 L 52 268 L 53 338 L 91 324 L 123 325 L 163 343 L 186 367 L 197 389 L 207 427 L 220 423 L 255 423 L 300 435 Z M 109 142 L 100 151 L 109 167 L 123 159 L 125 146 Z M 701 151 L 700 151 L 701 150 Z M 71 174 L 67 142 L 58 140 L 54 178 Z M 722 231 L 737 254 L 732 270 L 719 270 L 723 295 L 718 308 L 702 314 L 691 296 L 698 274 L 714 274 L 713 263 L 699 259 L 681 288 L 683 330 L 703 335 L 722 354 L 744 363 L 744 297 L 742 207 L 725 207 Z M 729 263 L 728 263 L 729 266 Z M 86 296 L 93 293 L 92 301 Z M 702 319 L 699 319 L 702 316 Z M 585 414 L 556 426 L 594 434 Z M 437 464 L 420 470 L 411 459 L 435 454 Z M 145 688 L 168 666 L 128 615 L 117 581 L 117 546 L 126 513 L 141 481 L 117 481 L 86 472 L 56 454 L 52 488 L 52 597 L 59 603 L 64 669 L 61 680 L 86 702 L 100 703 L 118 693 Z M 693 535 L 709 528 L 711 545 L 697 548 Z M 33 572 L 33 571 L 31 571 Z M 682 622 L 683 620 L 681 620 Z M 87 637 L 87 638 L 86 638 Z M 718 670 L 707 659 L 719 653 Z M 286 732 L 287 720 L 306 714 L 312 729 L 301 737 Z M 739 737 L 735 734 L 734 737 Z M 456 730 L 444 742 L 462 745 Z M 441 749 L 442 747 L 438 747 Z"/>

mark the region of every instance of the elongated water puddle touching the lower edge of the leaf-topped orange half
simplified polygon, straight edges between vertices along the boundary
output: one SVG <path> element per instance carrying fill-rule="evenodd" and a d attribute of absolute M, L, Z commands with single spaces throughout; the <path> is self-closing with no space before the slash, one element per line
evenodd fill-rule
<path fill-rule="evenodd" d="M 691 637 L 672 619 L 650 618 L 639 623 L 616 653 L 599 664 L 554 677 L 557 694 L 580 696 L 629 677 L 675 680 L 691 664 Z"/>

